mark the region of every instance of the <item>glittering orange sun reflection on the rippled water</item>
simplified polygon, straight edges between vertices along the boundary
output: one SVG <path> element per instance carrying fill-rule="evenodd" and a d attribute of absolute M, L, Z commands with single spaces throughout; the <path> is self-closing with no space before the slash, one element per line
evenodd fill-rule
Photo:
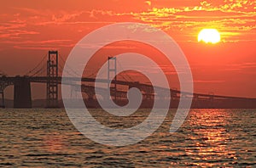
<path fill-rule="evenodd" d="M 226 129 L 230 125 L 230 112 L 224 109 L 211 109 L 211 113 L 205 110 L 195 111 L 190 115 L 189 126 L 191 134 L 189 138 L 193 140 L 191 148 L 186 148 L 186 154 L 192 155 L 195 160 L 205 160 L 205 162 L 195 163 L 195 165 L 212 166 L 219 164 L 223 158 L 236 158 L 236 152 L 230 150 L 230 133 Z M 212 163 L 208 163 L 207 160 Z"/>

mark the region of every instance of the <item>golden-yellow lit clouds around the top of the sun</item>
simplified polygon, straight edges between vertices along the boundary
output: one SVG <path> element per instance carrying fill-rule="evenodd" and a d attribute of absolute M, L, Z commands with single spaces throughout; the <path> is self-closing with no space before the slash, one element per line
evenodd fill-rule
<path fill-rule="evenodd" d="M 243 34 L 255 32 L 255 4 L 255 1 L 235 0 L 224 3 L 203 1 L 190 6 L 184 3 L 176 8 L 153 7 L 148 12 L 134 14 L 134 17 L 170 33 L 196 36 L 201 28 L 217 28 L 223 32 L 224 42 L 239 42 L 250 40 Z M 188 38 L 184 39 L 189 42 Z"/>

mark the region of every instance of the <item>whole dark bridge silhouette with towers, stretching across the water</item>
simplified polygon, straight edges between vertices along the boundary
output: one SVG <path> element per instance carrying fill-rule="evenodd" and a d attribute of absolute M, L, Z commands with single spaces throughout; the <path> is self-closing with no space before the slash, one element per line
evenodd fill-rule
<path fill-rule="evenodd" d="M 113 62 L 113 67 L 110 67 L 110 62 Z M 59 107 L 59 86 L 61 84 L 71 85 L 71 82 L 62 83 L 61 71 L 63 70 L 65 61 L 59 57 L 58 51 L 49 51 L 48 54 L 37 64 L 32 70 L 29 70 L 25 76 L 7 76 L 0 73 L 0 94 L 1 107 L 5 107 L 4 89 L 9 86 L 14 86 L 14 108 L 32 108 L 32 92 L 31 83 L 45 83 L 46 84 L 46 100 L 47 108 Z M 143 94 L 143 107 L 148 107 L 148 104 L 153 103 L 154 98 L 165 98 L 165 93 L 171 92 L 172 103 L 171 107 L 177 107 L 179 98 L 187 97 L 193 98 L 192 108 L 256 108 L 256 98 L 239 98 L 222 95 L 214 95 L 213 93 L 195 93 L 195 92 L 180 92 L 177 89 L 168 89 L 158 87 L 163 94 L 161 97 L 154 94 L 153 86 L 130 80 L 117 80 L 116 74 L 116 57 L 108 58 L 108 79 L 99 79 L 97 82 L 106 83 L 110 88 L 110 95 L 115 102 L 127 103 L 127 90 L 131 87 L 137 87 Z M 76 73 L 74 70 L 72 73 Z M 91 75 L 90 75 L 91 76 Z M 82 84 L 75 84 L 72 82 L 74 90 L 81 90 L 87 97 L 85 103 L 96 103 L 96 92 L 94 83 L 96 79 L 93 77 L 65 76 L 67 81 L 82 81 Z M 111 76 L 115 76 L 113 81 Z M 117 86 L 125 86 L 126 90 L 119 90 Z M 107 92 L 106 88 L 97 88 L 102 92 Z M 168 91 L 168 92 L 166 92 Z M 102 94 L 103 95 L 103 94 Z M 96 105 L 96 107 L 98 104 Z"/>

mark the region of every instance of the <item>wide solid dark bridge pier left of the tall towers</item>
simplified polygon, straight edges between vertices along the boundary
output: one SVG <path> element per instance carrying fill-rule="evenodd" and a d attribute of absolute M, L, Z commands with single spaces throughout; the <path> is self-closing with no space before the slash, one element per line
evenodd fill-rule
<path fill-rule="evenodd" d="M 26 77 L 19 77 L 15 80 L 15 109 L 32 108 L 31 85 Z"/>

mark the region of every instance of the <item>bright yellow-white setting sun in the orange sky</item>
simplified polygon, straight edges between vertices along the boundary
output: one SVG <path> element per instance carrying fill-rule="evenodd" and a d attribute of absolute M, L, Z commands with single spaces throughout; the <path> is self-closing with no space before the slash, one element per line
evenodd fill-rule
<path fill-rule="evenodd" d="M 220 34 L 216 29 L 203 29 L 198 34 L 198 42 L 217 43 L 220 42 Z"/>

